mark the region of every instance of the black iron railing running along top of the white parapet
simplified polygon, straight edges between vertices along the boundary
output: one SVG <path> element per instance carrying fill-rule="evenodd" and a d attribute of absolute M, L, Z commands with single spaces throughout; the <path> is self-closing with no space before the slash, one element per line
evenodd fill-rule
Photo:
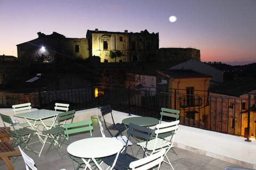
<path fill-rule="evenodd" d="M 95 90 L 97 89 L 97 96 Z M 165 90 L 166 91 L 166 90 Z M 161 107 L 180 110 L 180 123 L 221 133 L 255 135 L 254 94 L 244 98 L 223 97 L 207 91 L 132 90 L 122 86 L 104 85 L 78 89 L 37 91 L 0 96 L 0 107 L 30 102 L 35 108 L 54 108 L 54 103 L 69 103 L 70 109 L 82 110 L 110 104 L 116 111 L 159 118 Z M 253 96 L 251 98 L 251 96 Z M 247 128 L 249 127 L 249 128 Z"/>

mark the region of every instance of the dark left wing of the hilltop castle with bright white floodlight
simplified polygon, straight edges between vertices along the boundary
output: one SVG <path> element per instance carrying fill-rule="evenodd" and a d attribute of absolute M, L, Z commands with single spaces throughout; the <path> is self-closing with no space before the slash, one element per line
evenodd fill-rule
<path fill-rule="evenodd" d="M 18 59 L 22 64 L 52 63 L 63 58 L 88 58 L 86 38 L 66 38 L 53 32 L 45 35 L 38 32 L 38 38 L 17 45 Z"/>

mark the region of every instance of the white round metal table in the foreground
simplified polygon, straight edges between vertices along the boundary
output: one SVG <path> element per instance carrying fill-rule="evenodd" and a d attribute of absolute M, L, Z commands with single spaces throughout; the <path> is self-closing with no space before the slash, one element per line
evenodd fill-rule
<path fill-rule="evenodd" d="M 90 160 L 92 159 L 94 164 L 100 170 L 102 170 L 101 166 L 97 163 L 95 158 L 102 158 L 117 154 L 115 162 L 111 166 L 112 169 L 116 163 L 119 152 L 122 150 L 122 148 L 123 143 L 120 142 L 119 140 L 116 140 L 114 138 L 97 137 L 75 141 L 68 146 L 67 151 L 69 154 L 73 156 L 82 158 L 86 167 L 89 167 L 89 169 L 92 169 L 91 165 L 89 164 Z M 86 161 L 85 158 L 89 160 Z"/>

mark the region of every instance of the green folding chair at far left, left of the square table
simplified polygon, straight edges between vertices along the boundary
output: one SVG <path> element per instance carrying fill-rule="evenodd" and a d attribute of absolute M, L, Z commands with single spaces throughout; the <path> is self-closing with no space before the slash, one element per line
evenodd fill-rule
<path fill-rule="evenodd" d="M 16 147 L 16 146 L 21 146 L 21 149 L 28 149 L 30 151 L 33 151 L 33 149 L 31 149 L 29 146 L 28 146 L 28 142 L 29 140 L 31 139 L 31 137 L 33 136 L 33 134 L 36 132 L 35 130 L 31 130 L 31 129 L 28 129 L 26 127 L 23 127 L 23 128 L 20 128 L 20 129 L 15 129 L 15 126 L 14 124 L 12 123 L 12 119 L 10 116 L 8 115 L 3 115 L 3 114 L 0 114 L 1 118 L 2 118 L 2 121 L 4 123 L 4 128 L 5 128 L 5 131 L 7 132 L 7 134 L 10 135 L 10 137 L 13 139 L 12 141 L 12 146 L 13 147 Z M 6 123 L 10 126 L 12 126 L 12 129 L 11 131 L 9 131 L 7 129 L 7 125 Z M 33 151 L 34 152 L 34 151 Z M 35 152 L 34 152 L 35 153 Z"/>

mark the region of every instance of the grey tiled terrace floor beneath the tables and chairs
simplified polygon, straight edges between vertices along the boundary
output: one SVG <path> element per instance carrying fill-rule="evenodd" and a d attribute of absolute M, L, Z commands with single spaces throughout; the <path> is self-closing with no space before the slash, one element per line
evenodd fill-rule
<path fill-rule="evenodd" d="M 107 131 L 105 132 L 105 134 L 108 136 Z M 89 137 L 90 137 L 89 133 L 83 133 L 83 134 L 71 136 L 70 140 L 71 140 L 71 142 L 73 142 L 73 141 L 76 141 L 79 139 L 89 138 Z M 93 137 L 101 137 L 98 125 L 94 125 Z M 37 137 L 33 137 L 33 139 L 36 140 Z M 39 150 L 39 148 L 41 148 L 41 145 L 38 145 L 38 143 L 37 143 L 37 145 L 33 144 L 32 146 L 34 149 L 37 149 L 37 150 Z M 49 146 L 49 145 L 46 145 L 41 157 L 38 157 L 38 155 L 35 155 L 33 152 L 25 150 L 27 155 L 29 155 L 31 158 L 34 159 L 38 170 L 41 170 L 41 169 L 59 170 L 61 168 L 66 168 L 67 170 L 74 169 L 71 159 L 68 157 L 68 155 L 63 156 L 63 159 L 61 159 L 60 156 L 58 155 L 58 153 L 53 148 L 52 148 L 53 150 L 51 150 L 50 152 L 45 154 L 47 146 Z M 97 147 L 97 146 L 94 146 L 94 147 Z M 62 154 L 67 153 L 66 149 L 67 149 L 67 146 L 63 146 L 60 149 L 61 153 Z M 139 149 L 139 147 L 137 145 L 133 145 L 133 151 L 137 151 L 138 149 Z M 190 169 L 191 170 L 192 169 L 193 170 L 203 170 L 203 169 L 204 170 L 207 170 L 207 169 L 222 170 L 226 166 L 239 167 L 237 165 L 234 165 L 234 164 L 231 164 L 228 162 L 224 162 L 219 159 L 214 159 L 214 158 L 207 157 L 204 155 L 195 154 L 194 152 L 180 149 L 177 147 L 174 149 L 177 152 L 178 156 L 172 154 L 171 152 L 168 155 L 169 155 L 169 158 L 170 158 L 175 170 L 190 170 Z M 128 151 L 131 151 L 131 150 L 129 149 Z M 26 169 L 21 156 L 18 157 L 18 159 L 13 163 L 13 165 L 14 165 L 15 169 L 18 169 L 18 170 Z M 102 166 L 103 166 L 103 168 L 106 167 L 104 165 L 102 165 Z M 0 169 L 1 170 L 7 169 L 7 167 L 5 166 L 5 164 L 2 161 L 0 161 Z M 166 169 L 171 169 L 171 167 L 170 167 L 170 165 L 163 163 L 161 165 L 161 169 L 166 170 Z"/>

